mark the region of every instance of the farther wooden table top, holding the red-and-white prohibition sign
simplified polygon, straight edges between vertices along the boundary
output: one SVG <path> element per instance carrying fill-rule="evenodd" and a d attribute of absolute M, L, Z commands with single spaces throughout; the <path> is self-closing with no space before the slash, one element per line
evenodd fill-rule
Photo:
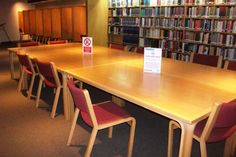
<path fill-rule="evenodd" d="M 59 70 L 97 66 L 140 58 L 141 54 L 124 53 L 107 47 L 94 46 L 93 55 L 83 55 L 80 43 L 9 48 L 13 52 L 28 53 L 31 58 L 54 62 Z"/>

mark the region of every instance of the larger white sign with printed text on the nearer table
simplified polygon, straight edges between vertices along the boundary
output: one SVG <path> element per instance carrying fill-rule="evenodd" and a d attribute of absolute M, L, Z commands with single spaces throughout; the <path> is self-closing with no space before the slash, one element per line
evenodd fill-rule
<path fill-rule="evenodd" d="M 161 73 L 161 48 L 144 48 L 144 72 Z"/>

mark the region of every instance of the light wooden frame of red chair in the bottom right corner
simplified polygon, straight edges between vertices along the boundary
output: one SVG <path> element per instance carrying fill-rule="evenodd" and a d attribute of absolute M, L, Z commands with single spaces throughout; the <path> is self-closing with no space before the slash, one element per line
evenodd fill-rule
<path fill-rule="evenodd" d="M 200 143 L 201 157 L 207 157 L 206 141 L 208 137 L 210 136 L 210 133 L 219 115 L 221 107 L 222 107 L 222 104 L 215 103 L 208 117 L 206 125 L 202 131 L 201 136 L 198 137 L 196 135 L 193 135 L 193 138 Z M 168 133 L 168 157 L 172 157 L 173 131 L 174 129 L 177 129 L 177 128 L 181 128 L 180 124 L 176 121 L 171 120 L 169 122 L 169 133 Z M 226 139 L 226 144 L 224 148 L 224 157 L 229 157 L 230 155 L 234 154 L 234 151 L 236 148 L 235 146 L 236 137 L 234 136 L 236 136 L 236 133 Z"/>

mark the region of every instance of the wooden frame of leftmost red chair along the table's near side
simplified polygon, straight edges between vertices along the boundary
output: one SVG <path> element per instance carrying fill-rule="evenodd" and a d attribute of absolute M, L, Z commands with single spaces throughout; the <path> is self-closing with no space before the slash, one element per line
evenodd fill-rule
<path fill-rule="evenodd" d="M 29 90 L 27 91 L 27 97 L 28 99 L 30 99 L 31 95 L 32 95 L 32 90 L 33 90 L 33 86 L 34 86 L 34 80 L 35 80 L 35 77 L 38 75 L 38 73 L 36 73 L 35 69 L 34 69 L 34 65 L 31 61 L 31 59 L 29 58 L 29 56 L 27 54 L 25 54 L 26 57 L 27 57 L 27 60 L 29 62 L 29 65 L 30 65 L 30 70 L 32 72 L 32 78 L 31 78 L 31 81 L 30 81 L 30 86 L 29 86 Z M 21 74 L 20 74 L 20 79 L 19 79 L 19 83 L 18 83 L 18 87 L 17 87 L 17 91 L 20 92 L 20 90 L 22 89 L 22 84 L 24 82 L 24 78 L 25 78 L 25 74 L 27 74 L 25 72 L 25 70 L 27 69 L 27 67 L 23 66 L 20 64 L 20 71 L 21 71 Z"/>

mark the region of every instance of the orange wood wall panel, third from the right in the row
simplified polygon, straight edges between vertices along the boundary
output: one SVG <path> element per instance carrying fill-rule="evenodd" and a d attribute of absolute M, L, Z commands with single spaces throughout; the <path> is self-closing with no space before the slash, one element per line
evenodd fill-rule
<path fill-rule="evenodd" d="M 52 11 L 52 36 L 61 38 L 61 9 L 53 8 Z"/>

